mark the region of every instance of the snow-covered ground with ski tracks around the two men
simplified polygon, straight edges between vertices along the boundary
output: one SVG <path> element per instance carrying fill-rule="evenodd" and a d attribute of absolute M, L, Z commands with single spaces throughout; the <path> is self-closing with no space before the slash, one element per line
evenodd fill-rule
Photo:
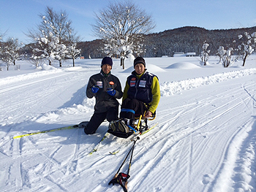
<path fill-rule="evenodd" d="M 149 122 L 158 125 L 135 145 L 128 191 L 256 191 L 256 55 L 245 67 L 238 61 L 227 69 L 218 58 L 208 66 L 198 59 L 146 58 L 162 97 Z M 94 135 L 75 128 L 13 139 L 89 120 L 94 99 L 85 90 L 100 62 L 35 69 L 18 61 L 19 71 L 0 72 L 1 191 L 122 191 L 108 183 L 132 142 L 108 137 L 88 155 L 107 122 Z M 123 88 L 130 72 L 131 62 L 123 70 L 114 60 L 112 73 Z M 128 146 L 110 155 L 123 143 Z"/>

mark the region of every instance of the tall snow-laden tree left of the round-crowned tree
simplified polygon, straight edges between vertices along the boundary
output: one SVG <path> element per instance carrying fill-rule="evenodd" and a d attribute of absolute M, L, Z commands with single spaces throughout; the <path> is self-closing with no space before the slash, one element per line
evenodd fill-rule
<path fill-rule="evenodd" d="M 49 65 L 53 59 L 59 61 L 59 66 L 62 66 L 62 61 L 67 58 L 69 50 L 69 34 L 72 33 L 71 20 L 68 19 L 66 12 L 55 12 L 50 7 L 45 10 L 45 15 L 40 14 L 41 23 L 37 26 L 37 30 L 30 30 L 28 37 L 31 37 L 40 46 L 36 46 L 35 50 L 42 53 L 42 57 L 48 59 Z M 72 34 L 75 36 L 75 34 Z M 72 45 L 74 47 L 74 44 Z"/>

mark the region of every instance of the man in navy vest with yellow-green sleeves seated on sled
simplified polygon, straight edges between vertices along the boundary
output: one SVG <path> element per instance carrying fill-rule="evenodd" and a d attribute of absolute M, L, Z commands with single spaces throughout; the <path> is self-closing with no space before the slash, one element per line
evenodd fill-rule
<path fill-rule="evenodd" d="M 157 110 L 160 100 L 158 77 L 146 71 L 144 58 L 135 58 L 134 68 L 135 71 L 127 77 L 120 112 L 120 118 L 129 119 L 131 126 L 135 114 L 144 115 L 144 118 L 151 117 Z"/>

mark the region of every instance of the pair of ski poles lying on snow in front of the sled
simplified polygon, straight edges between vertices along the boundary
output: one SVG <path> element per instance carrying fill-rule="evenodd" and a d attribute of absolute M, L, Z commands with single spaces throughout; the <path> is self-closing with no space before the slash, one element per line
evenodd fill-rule
<path fill-rule="evenodd" d="M 124 161 L 122 162 L 121 166 L 119 167 L 118 171 L 116 172 L 115 176 L 113 177 L 112 180 L 110 180 L 110 183 L 108 183 L 108 185 L 110 185 L 111 183 L 113 185 L 115 185 L 116 183 L 121 185 L 121 187 L 124 189 L 125 192 L 127 192 L 127 180 L 129 179 L 129 169 L 130 169 L 130 166 L 132 165 L 132 155 L 133 155 L 133 150 L 134 150 L 134 147 L 135 147 L 135 143 L 137 142 L 137 140 L 140 139 L 140 137 L 137 137 L 135 140 L 133 140 L 133 145 L 131 147 L 131 149 L 129 150 L 128 154 L 126 155 L 126 157 L 124 158 Z M 127 158 L 129 156 L 129 153 L 131 153 L 131 157 L 130 157 L 130 161 L 129 161 L 129 168 L 128 168 L 128 172 L 127 174 L 125 173 L 118 173 L 121 169 L 121 167 L 124 165 L 125 161 L 127 161 Z M 125 177 L 125 178 L 124 178 Z M 125 184 L 123 185 L 123 182 L 125 182 Z"/>

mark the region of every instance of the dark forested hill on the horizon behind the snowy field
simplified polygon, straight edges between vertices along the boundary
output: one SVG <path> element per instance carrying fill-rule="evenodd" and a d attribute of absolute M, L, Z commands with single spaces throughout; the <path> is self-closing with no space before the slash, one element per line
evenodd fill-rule
<path fill-rule="evenodd" d="M 174 53 L 195 52 L 200 55 L 203 42 L 209 44 L 210 55 L 216 55 L 219 46 L 236 48 L 238 35 L 248 32 L 252 34 L 256 31 L 256 26 L 252 28 L 235 28 L 221 30 L 207 30 L 193 26 L 185 26 L 171 30 L 162 31 L 144 36 L 143 48 L 144 57 L 161 57 L 162 55 L 173 56 Z M 81 49 L 81 55 L 85 58 L 102 58 L 105 53 L 102 52 L 103 42 L 97 39 L 91 42 L 80 42 L 78 48 Z"/>

